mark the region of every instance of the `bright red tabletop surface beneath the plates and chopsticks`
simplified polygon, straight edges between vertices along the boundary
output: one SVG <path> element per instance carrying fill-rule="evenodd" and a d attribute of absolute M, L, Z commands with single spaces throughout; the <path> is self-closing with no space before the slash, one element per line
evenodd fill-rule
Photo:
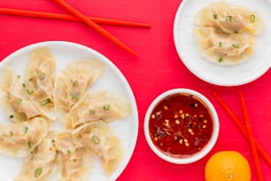
<path fill-rule="evenodd" d="M 65 40 L 89 46 L 112 60 L 127 77 L 135 96 L 139 113 L 139 132 L 135 153 L 119 181 L 127 180 L 204 180 L 207 159 L 221 150 L 235 150 L 242 153 L 252 167 L 252 181 L 256 180 L 252 152 L 247 140 L 236 129 L 228 115 L 213 98 L 216 91 L 244 121 L 238 91 L 244 91 L 245 101 L 252 122 L 255 138 L 271 155 L 271 72 L 253 83 L 237 87 L 219 87 L 205 83 L 184 67 L 178 57 L 173 41 L 174 14 L 181 0 L 66 0 L 79 11 L 89 16 L 112 17 L 135 20 L 151 24 L 150 29 L 120 28 L 103 26 L 120 38 L 139 54 L 135 57 L 116 44 L 105 39 L 93 29 L 80 23 L 58 20 L 37 20 L 0 15 L 0 59 L 31 43 L 51 40 Z M 0 1 L 0 7 L 23 8 L 64 13 L 57 4 L 48 0 Z M 174 88 L 190 88 L 203 93 L 217 109 L 221 131 L 217 144 L 211 153 L 189 165 L 175 165 L 160 160 L 147 145 L 143 135 L 143 118 L 151 101 L 163 91 Z M 271 169 L 260 157 L 265 180 L 271 179 Z"/>

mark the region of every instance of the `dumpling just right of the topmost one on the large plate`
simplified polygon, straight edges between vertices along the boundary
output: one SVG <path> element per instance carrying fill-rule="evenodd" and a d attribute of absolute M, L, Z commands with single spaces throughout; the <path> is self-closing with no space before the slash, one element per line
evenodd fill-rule
<path fill-rule="evenodd" d="M 56 78 L 54 90 L 55 111 L 59 121 L 83 96 L 89 86 L 104 72 L 103 62 L 81 59 L 68 65 Z"/>

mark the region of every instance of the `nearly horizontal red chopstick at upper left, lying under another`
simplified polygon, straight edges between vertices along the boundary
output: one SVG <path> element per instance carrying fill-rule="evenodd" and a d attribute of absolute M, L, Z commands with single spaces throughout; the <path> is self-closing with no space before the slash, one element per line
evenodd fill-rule
<path fill-rule="evenodd" d="M 0 14 L 50 19 L 50 20 L 69 20 L 69 21 L 77 21 L 77 22 L 81 21 L 74 18 L 74 16 L 67 15 L 67 14 L 28 11 L 28 10 L 19 10 L 19 9 L 13 9 L 13 8 L 0 7 Z M 128 20 L 116 20 L 116 19 L 97 18 L 97 17 L 88 17 L 88 19 L 92 20 L 93 22 L 96 22 L 97 24 L 104 24 L 104 25 L 124 26 L 124 27 L 134 27 L 134 28 L 150 28 L 151 27 L 149 24 L 133 22 L 133 21 L 128 21 Z"/>

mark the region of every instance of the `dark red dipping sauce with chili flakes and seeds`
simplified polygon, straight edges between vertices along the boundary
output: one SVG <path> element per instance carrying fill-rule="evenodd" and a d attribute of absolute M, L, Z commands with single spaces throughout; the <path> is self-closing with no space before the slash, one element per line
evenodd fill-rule
<path fill-rule="evenodd" d="M 210 110 L 199 98 L 175 93 L 151 112 L 149 130 L 155 146 L 170 156 L 200 151 L 213 134 Z"/>

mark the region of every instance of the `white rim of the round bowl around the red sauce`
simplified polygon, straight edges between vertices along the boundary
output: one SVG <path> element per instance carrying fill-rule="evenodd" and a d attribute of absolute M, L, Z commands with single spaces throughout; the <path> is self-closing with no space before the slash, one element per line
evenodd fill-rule
<path fill-rule="evenodd" d="M 191 154 L 190 156 L 187 156 L 187 157 L 185 156 L 183 158 L 170 157 L 166 155 L 165 153 L 161 152 L 159 148 L 153 144 L 151 140 L 150 132 L 149 132 L 149 121 L 150 121 L 150 116 L 151 116 L 151 112 L 153 108 L 157 106 L 160 100 L 162 100 L 163 98 L 166 98 L 166 96 L 170 96 L 175 93 L 188 93 L 190 95 L 197 97 L 198 99 L 200 99 L 201 101 L 205 103 L 205 105 L 209 108 L 213 117 L 213 134 L 210 140 L 208 141 L 208 143 L 199 152 Z M 144 127 L 143 129 L 144 129 L 145 139 L 148 145 L 151 147 L 151 150 L 154 153 L 156 153 L 161 159 L 172 162 L 172 163 L 176 163 L 176 164 L 187 164 L 187 163 L 195 162 L 202 159 L 203 157 L 205 157 L 207 153 L 209 153 L 213 149 L 213 146 L 215 145 L 219 136 L 220 122 L 219 122 L 218 114 L 216 113 L 216 110 L 213 104 L 209 101 L 208 98 L 205 98 L 203 94 L 197 91 L 190 90 L 190 89 L 177 88 L 177 89 L 173 89 L 173 90 L 169 90 L 169 91 L 165 91 L 161 93 L 157 98 L 155 98 L 151 102 L 151 105 L 148 107 L 148 110 L 144 117 L 143 127 Z"/>

